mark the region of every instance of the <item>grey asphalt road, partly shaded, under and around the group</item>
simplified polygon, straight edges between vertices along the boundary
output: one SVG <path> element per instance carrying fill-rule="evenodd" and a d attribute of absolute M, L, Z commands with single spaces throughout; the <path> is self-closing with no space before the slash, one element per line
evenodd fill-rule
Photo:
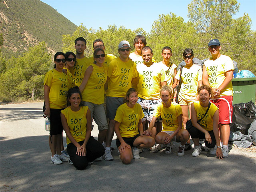
<path fill-rule="evenodd" d="M 124 165 L 114 136 L 114 161 L 94 162 L 82 171 L 68 162 L 51 164 L 42 106 L 0 106 L 1 191 L 256 191 L 256 154 L 237 148 L 224 160 L 208 152 L 192 157 L 193 148 L 178 157 L 174 142 L 170 155 L 145 150 Z M 92 135 L 97 139 L 96 126 Z"/>

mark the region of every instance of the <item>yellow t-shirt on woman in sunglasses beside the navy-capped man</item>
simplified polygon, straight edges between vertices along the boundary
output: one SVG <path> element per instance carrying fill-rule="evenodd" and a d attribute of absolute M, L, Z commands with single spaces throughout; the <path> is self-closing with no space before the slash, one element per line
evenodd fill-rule
<path fill-rule="evenodd" d="M 198 81 L 202 80 L 202 68 L 193 64 L 190 68 L 184 66 L 182 68 L 182 84 L 179 92 L 179 99 L 196 100 Z M 180 70 L 177 72 L 176 79 L 180 80 Z"/>

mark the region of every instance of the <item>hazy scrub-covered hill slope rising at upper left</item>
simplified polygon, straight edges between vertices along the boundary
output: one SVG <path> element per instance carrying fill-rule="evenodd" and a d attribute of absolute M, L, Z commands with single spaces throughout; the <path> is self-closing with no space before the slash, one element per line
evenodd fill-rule
<path fill-rule="evenodd" d="M 62 47 L 62 35 L 72 34 L 76 25 L 40 0 L 0 0 L 2 54 L 19 56 L 28 47 L 46 42 L 49 50 Z"/>

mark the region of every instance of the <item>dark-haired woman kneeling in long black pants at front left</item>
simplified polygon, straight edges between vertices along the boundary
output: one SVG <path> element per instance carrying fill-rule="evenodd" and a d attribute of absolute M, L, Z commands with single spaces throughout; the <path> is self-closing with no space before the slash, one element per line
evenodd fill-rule
<path fill-rule="evenodd" d="M 62 126 L 67 136 L 67 151 L 75 168 L 83 170 L 104 154 L 104 147 L 91 136 L 92 120 L 88 106 L 80 106 L 78 87 L 68 90 L 70 106 L 61 111 Z"/>

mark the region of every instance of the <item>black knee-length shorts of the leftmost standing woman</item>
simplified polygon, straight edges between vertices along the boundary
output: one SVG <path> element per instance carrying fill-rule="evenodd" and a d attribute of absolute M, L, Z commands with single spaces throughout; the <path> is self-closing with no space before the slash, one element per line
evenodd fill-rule
<path fill-rule="evenodd" d="M 62 134 L 63 132 L 63 126 L 61 123 L 61 118 L 60 118 L 60 111 L 64 110 L 63 109 L 50 109 L 50 121 L 51 121 L 51 130 L 50 130 L 50 135 L 58 135 Z"/>

